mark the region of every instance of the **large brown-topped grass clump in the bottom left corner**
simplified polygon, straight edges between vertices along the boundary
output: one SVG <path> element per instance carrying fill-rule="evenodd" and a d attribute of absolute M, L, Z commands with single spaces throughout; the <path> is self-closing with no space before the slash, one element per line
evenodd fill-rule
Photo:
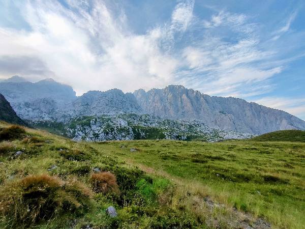
<path fill-rule="evenodd" d="M 49 175 L 31 175 L 0 189 L 0 213 L 11 228 L 27 228 L 41 220 L 90 207 L 91 191 L 76 180 L 64 182 Z"/>

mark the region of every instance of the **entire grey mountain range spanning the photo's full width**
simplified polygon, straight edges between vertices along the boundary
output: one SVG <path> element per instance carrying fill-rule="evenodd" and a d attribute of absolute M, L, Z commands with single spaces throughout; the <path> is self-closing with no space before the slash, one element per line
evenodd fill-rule
<path fill-rule="evenodd" d="M 154 117 L 153 120 L 195 120 L 207 128 L 234 133 L 305 130 L 303 120 L 285 111 L 233 97 L 208 96 L 182 85 L 147 92 L 140 89 L 134 93 L 118 89 L 89 91 L 76 96 L 72 87 L 53 79 L 33 83 L 14 76 L 0 82 L 0 93 L 20 118 L 35 123 L 71 123 L 81 117 L 115 117 L 133 113 L 149 115 Z"/>

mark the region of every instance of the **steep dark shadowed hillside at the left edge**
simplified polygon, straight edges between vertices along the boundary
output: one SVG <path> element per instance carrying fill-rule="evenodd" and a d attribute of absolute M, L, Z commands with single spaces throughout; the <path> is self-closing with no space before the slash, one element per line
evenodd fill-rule
<path fill-rule="evenodd" d="M 11 107 L 10 103 L 5 99 L 5 97 L 0 94 L 0 120 L 19 124 L 25 126 L 25 122 L 23 122 L 16 114 L 16 112 Z"/>

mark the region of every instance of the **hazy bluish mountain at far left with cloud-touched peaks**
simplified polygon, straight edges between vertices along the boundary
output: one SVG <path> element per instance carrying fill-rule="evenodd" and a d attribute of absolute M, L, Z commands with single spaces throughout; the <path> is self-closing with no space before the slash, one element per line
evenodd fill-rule
<path fill-rule="evenodd" d="M 0 93 L 11 103 L 17 115 L 27 120 L 50 120 L 60 117 L 58 110 L 76 99 L 72 87 L 44 79 L 36 83 L 21 77 L 0 82 Z"/>

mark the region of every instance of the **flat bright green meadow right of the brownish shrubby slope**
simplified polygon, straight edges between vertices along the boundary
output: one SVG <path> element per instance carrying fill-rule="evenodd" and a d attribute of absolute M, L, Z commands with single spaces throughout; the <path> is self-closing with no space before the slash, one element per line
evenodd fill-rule
<path fill-rule="evenodd" d="M 120 148 L 122 144 L 126 148 Z M 277 227 L 305 225 L 303 143 L 138 140 L 91 146 L 168 178 L 191 180 L 219 202 L 264 217 Z M 139 151 L 130 153 L 130 148 Z"/>

